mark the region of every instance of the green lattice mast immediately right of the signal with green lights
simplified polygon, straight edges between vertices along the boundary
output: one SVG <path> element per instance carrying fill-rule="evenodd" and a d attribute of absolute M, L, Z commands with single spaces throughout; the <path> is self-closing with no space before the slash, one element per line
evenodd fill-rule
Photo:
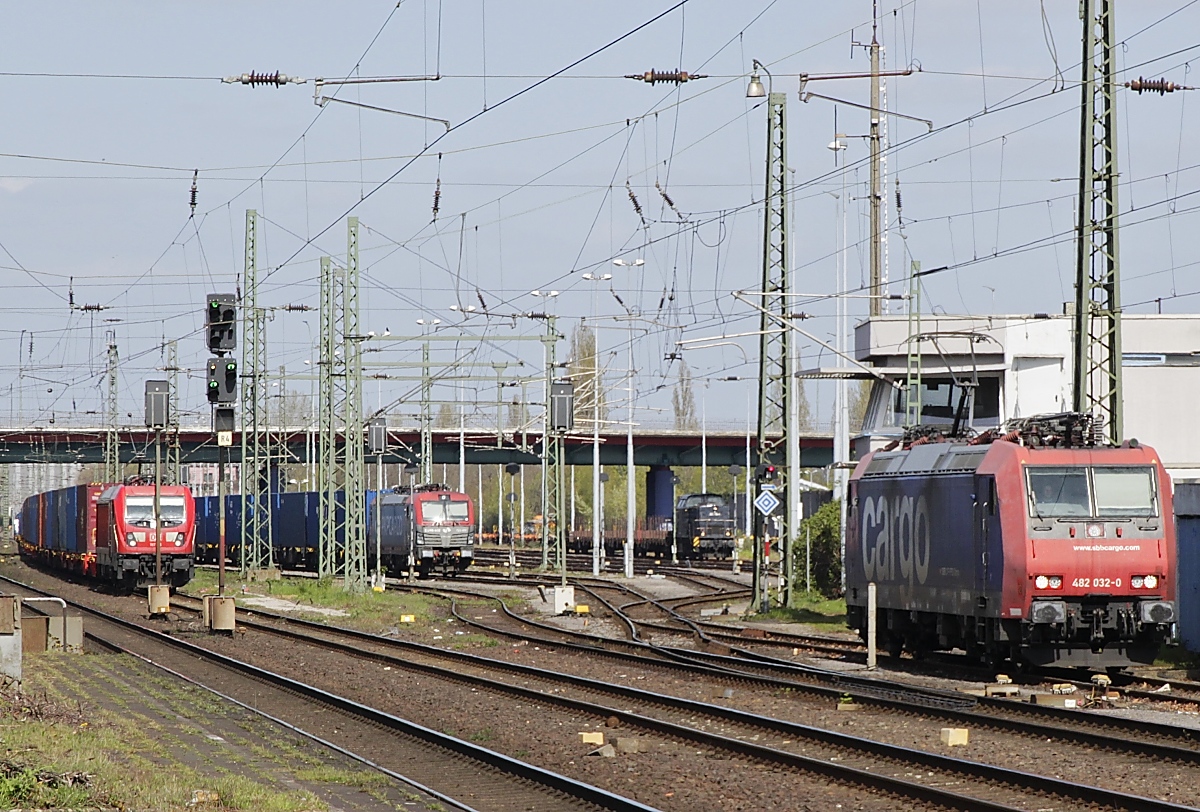
<path fill-rule="evenodd" d="M 274 569 L 268 425 L 266 312 L 258 306 L 258 212 L 246 210 L 241 324 L 241 571 Z"/>

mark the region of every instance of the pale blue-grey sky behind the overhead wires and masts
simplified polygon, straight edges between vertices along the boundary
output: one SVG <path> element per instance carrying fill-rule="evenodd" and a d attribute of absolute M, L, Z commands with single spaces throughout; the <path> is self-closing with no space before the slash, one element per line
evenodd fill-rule
<path fill-rule="evenodd" d="M 343 216 L 353 210 L 364 225 L 365 329 L 409 332 L 419 329 L 418 318 L 437 318 L 445 331 L 460 321 L 450 306 L 478 305 L 476 289 L 504 313 L 542 309 L 529 291 L 556 289 L 562 294 L 554 309 L 568 330 L 580 317 L 601 327 L 607 383 L 616 389 L 628 366 L 626 333 L 612 317 L 624 311 L 610 282 L 583 279 L 612 273 L 622 301 L 655 323 L 636 343 L 638 403 L 646 407 L 638 420 L 666 423 L 670 415 L 661 410 L 670 399 L 659 387 L 676 374 L 666 357 L 674 342 L 757 325 L 730 296 L 754 288 L 761 267 L 761 206 L 754 200 L 762 194 L 766 125 L 762 106 L 744 97 L 751 60 L 766 64 L 774 89 L 788 94 L 797 289 L 834 290 L 834 194 L 844 182 L 850 279 L 864 281 L 866 150 L 853 136 L 866 132 L 869 114 L 839 108 L 838 128 L 851 136 L 850 168 L 835 170 L 826 149 L 835 106 L 802 104 L 797 74 L 866 71 L 865 52 L 851 43 L 870 40 L 871 14 L 866 0 L 690 0 L 630 34 L 672 6 L 407 0 L 398 7 L 7 8 L 0 30 L 0 273 L 11 295 L 0 325 L 0 386 L 12 384 L 25 422 L 100 409 L 104 331 L 113 329 L 127 360 L 124 402 L 134 410 L 142 380 L 161 374 L 155 368 L 162 366 L 163 339 L 179 338 L 184 366 L 197 371 L 181 405 L 191 421 L 205 421 L 205 353 L 197 330 L 204 295 L 236 284 L 245 210 L 263 217 L 259 261 L 270 276 L 262 302 L 313 307 L 318 258 L 344 252 Z M 889 188 L 890 276 L 899 278 L 911 258 L 925 267 L 978 259 L 930 277 L 926 308 L 1058 311 L 1072 297 L 1074 275 L 1078 4 L 892 0 L 881 10 L 888 67 L 922 68 L 889 80 L 890 107 L 935 125 L 923 137 L 923 125 L 892 122 L 888 167 L 892 180 L 900 179 L 904 229 Z M 1118 37 L 1127 41 L 1118 55 L 1128 71 L 1123 78 L 1192 82 L 1187 64 L 1200 54 L 1200 5 L 1122 4 L 1117 14 Z M 563 77 L 505 101 L 596 49 Z M 1055 53 L 1066 79 L 1057 91 Z M 676 67 L 710 77 L 678 89 L 620 78 Z M 310 82 L 244 88 L 218 80 L 276 70 Z M 449 120 L 454 130 L 415 160 L 444 133 L 440 125 L 313 104 L 313 77 L 439 70 L 438 82 L 338 91 L 349 101 Z M 868 101 L 865 80 L 811 89 Z M 1164 312 L 1195 308 L 1195 297 L 1170 296 L 1200 290 L 1200 255 L 1189 239 L 1198 224 L 1200 160 L 1187 138 L 1198 102 L 1189 94 L 1120 97 L 1121 202 L 1123 211 L 1134 209 L 1122 221 L 1123 297 L 1134 312 L 1156 309 L 1158 297 L 1168 297 Z M 193 169 L 199 202 L 191 219 Z M 1163 203 L 1169 199 L 1176 202 Z M 1027 243 L 1042 247 L 1014 252 Z M 644 265 L 617 267 L 614 258 L 641 258 Z M 106 309 L 68 311 L 72 277 L 77 305 Z M 830 301 L 803 308 L 815 315 L 808 323 L 814 332 L 832 335 Z M 862 314 L 862 300 L 851 311 Z M 280 313 L 269 326 L 272 367 L 305 371 L 317 324 L 316 312 Z M 541 329 L 524 319 L 479 317 L 468 327 L 505 335 Z M 752 361 L 752 343 L 745 353 Z M 368 357 L 410 361 L 413 354 Z M 541 363 L 540 345 L 497 343 L 473 360 L 517 357 L 532 372 Z M 733 347 L 688 357 L 698 378 L 755 372 Z M 805 363 L 818 362 L 832 359 L 806 349 Z M 740 381 L 709 384 L 704 410 L 714 425 L 745 420 L 748 389 Z M 386 404 L 412 390 L 396 381 L 367 384 L 367 401 Z M 623 404 L 624 397 L 613 392 L 611 399 Z M 480 402 L 476 419 L 486 421 L 496 387 L 480 384 L 469 398 Z M 827 393 L 812 391 L 810 399 L 815 416 L 827 421 Z M 413 407 L 397 411 L 410 414 Z"/>

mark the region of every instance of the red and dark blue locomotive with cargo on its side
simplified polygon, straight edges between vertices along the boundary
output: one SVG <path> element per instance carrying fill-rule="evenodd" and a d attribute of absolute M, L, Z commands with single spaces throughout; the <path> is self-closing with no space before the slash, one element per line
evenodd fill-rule
<path fill-rule="evenodd" d="M 854 469 L 851 627 L 893 655 L 1121 668 L 1176 620 L 1171 485 L 1158 455 L 1091 443 L 1091 419 L 1031 417 L 973 444 L 876 451 Z"/>

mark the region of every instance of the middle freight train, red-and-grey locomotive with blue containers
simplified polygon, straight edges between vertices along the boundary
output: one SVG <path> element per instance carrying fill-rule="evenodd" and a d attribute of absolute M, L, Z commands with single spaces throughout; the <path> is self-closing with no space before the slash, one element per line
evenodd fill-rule
<path fill-rule="evenodd" d="M 272 494 L 272 500 L 271 548 L 275 564 L 284 570 L 317 572 L 320 551 L 319 494 Z M 344 494 L 338 492 L 338 524 L 344 519 Z M 408 572 L 410 551 L 413 567 L 422 578 L 434 572 L 456 575 L 470 566 L 475 549 L 475 506 L 467 494 L 450 491 L 444 485 L 424 485 L 413 491 L 396 488 L 384 492 L 379 507 L 383 511 L 380 558 L 385 572 Z M 366 511 L 367 563 L 373 570 L 377 522 L 373 491 L 366 494 Z M 197 560 L 216 564 L 220 542 L 217 498 L 197 499 Z M 241 560 L 240 543 L 241 497 L 227 497 L 227 561 Z"/>

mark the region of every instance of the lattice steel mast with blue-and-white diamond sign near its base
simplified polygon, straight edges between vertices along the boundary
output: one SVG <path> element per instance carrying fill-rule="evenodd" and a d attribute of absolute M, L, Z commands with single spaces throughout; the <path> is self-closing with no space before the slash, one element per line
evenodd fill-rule
<path fill-rule="evenodd" d="M 758 464 L 772 464 L 776 450 L 782 451 L 784 461 L 778 467 L 780 473 L 776 487 L 782 492 L 787 488 L 787 475 L 791 459 L 787 443 L 787 423 L 790 401 L 792 397 L 791 378 L 791 329 L 787 324 L 790 278 L 787 269 L 787 96 L 768 94 L 767 96 L 767 185 L 763 200 L 763 245 L 762 245 L 762 315 L 758 329 Z M 794 431 L 794 429 L 793 429 Z M 762 482 L 756 482 L 756 495 L 762 492 Z M 791 525 L 790 512 L 785 509 L 775 513 L 778 534 L 772 534 L 784 541 L 785 559 L 790 553 L 790 541 L 794 528 Z M 766 595 L 767 560 L 763 537 L 767 528 L 761 513 L 755 516 L 755 567 L 754 600 Z M 786 563 L 785 563 L 786 569 Z M 782 600 L 790 602 L 791 584 L 785 579 Z M 762 610 L 768 609 L 767 599 L 762 600 Z"/>

